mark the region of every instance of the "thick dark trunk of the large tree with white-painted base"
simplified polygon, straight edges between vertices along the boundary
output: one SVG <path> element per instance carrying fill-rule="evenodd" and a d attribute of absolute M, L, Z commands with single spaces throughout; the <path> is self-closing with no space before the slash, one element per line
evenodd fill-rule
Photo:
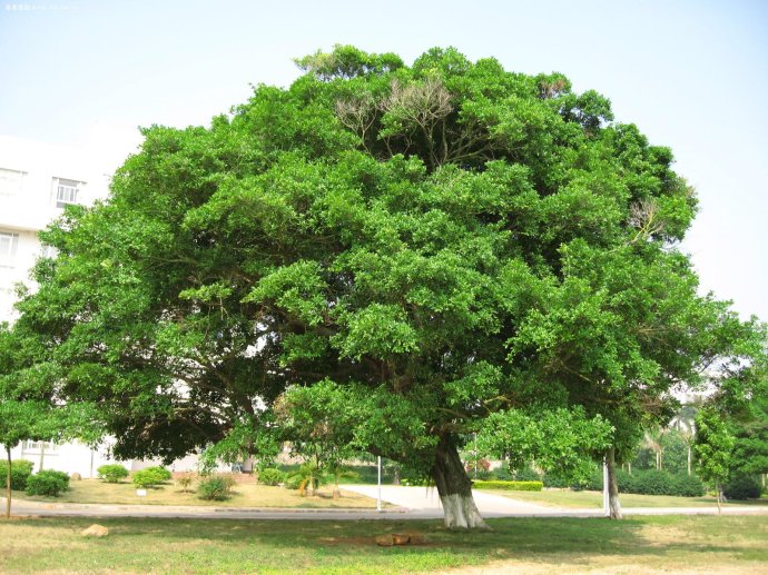
<path fill-rule="evenodd" d="M 444 523 L 449 528 L 488 529 L 472 497 L 472 482 L 461 463 L 456 446 L 441 438 L 432 467 L 432 478 L 443 504 Z"/>

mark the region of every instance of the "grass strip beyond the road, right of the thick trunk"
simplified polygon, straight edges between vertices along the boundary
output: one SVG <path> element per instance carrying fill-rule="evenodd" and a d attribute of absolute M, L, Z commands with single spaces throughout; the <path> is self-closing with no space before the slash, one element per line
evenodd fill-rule
<path fill-rule="evenodd" d="M 602 508 L 602 492 L 572 492 L 570 489 L 544 489 L 542 492 L 484 490 L 511 499 L 550 505 L 552 507 Z M 622 507 L 716 507 L 715 497 L 672 497 L 669 495 L 621 494 Z M 728 502 L 726 505 L 768 505 L 768 499 Z"/>

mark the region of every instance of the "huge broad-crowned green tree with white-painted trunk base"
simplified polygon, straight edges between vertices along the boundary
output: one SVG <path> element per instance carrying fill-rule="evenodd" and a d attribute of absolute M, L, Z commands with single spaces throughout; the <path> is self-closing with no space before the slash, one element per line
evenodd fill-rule
<path fill-rule="evenodd" d="M 582 406 L 623 449 L 720 351 L 672 247 L 691 189 L 604 97 L 454 49 L 297 63 L 208 128 L 145 129 L 110 198 L 42 236 L 21 321 L 116 454 L 257 450 L 317 389 L 480 527 L 457 445 L 489 415 Z"/>

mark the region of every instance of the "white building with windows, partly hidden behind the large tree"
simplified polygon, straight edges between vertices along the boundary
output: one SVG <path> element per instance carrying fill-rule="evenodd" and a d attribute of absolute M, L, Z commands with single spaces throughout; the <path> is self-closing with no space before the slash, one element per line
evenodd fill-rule
<path fill-rule="evenodd" d="M 110 172 L 110 167 L 99 169 L 86 150 L 0 137 L 0 321 L 13 323 L 16 287 L 30 286 L 30 268 L 50 249 L 41 245 L 38 231 L 67 204 L 89 205 L 106 197 Z M 100 465 L 115 463 L 106 449 L 78 442 L 23 442 L 11 457 L 31 460 L 36 472 L 42 466 L 82 477 L 95 477 Z"/>

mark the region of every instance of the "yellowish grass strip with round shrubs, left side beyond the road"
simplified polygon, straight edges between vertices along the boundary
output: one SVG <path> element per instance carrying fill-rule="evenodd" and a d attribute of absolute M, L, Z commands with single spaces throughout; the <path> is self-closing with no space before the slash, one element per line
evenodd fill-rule
<path fill-rule="evenodd" d="M 58 497 L 33 497 L 23 492 L 13 492 L 13 497 L 27 500 L 56 503 L 104 503 L 144 505 L 215 505 L 221 507 L 321 507 L 321 508 L 364 508 L 376 507 L 376 500 L 342 489 L 342 497 L 332 497 L 333 487 L 319 489 L 315 497 L 302 497 L 297 490 L 285 487 L 256 485 L 253 482 L 238 483 L 234 496 L 225 502 L 206 502 L 195 493 L 184 493 L 176 485 L 163 485 L 147 489 L 146 497 L 136 495 L 132 483 L 105 483 L 99 479 L 70 482 L 70 489 Z M 193 485 L 194 488 L 194 485 Z"/>

